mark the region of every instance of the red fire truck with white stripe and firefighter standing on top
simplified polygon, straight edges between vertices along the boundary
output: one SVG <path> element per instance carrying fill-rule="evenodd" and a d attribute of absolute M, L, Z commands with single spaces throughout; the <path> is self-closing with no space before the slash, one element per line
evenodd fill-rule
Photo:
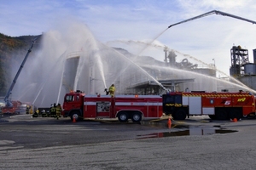
<path fill-rule="evenodd" d="M 116 118 L 119 122 L 140 122 L 142 117 L 162 116 L 162 98 L 157 95 L 85 95 L 80 91 L 65 95 L 62 116 L 71 120 Z"/>

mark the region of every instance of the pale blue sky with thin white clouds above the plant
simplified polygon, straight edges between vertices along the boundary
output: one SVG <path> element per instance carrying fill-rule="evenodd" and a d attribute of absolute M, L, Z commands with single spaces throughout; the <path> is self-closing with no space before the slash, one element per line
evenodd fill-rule
<path fill-rule="evenodd" d="M 0 0 L 0 32 L 18 37 L 78 20 L 101 42 L 148 41 L 174 23 L 219 10 L 256 20 L 253 0 Z M 156 41 L 229 73 L 230 48 L 256 48 L 256 25 L 212 14 L 166 30 Z M 163 59 L 163 53 L 160 59 Z"/>

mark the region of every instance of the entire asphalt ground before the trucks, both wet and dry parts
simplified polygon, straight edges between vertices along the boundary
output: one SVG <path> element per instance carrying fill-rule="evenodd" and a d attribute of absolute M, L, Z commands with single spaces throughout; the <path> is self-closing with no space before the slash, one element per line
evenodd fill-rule
<path fill-rule="evenodd" d="M 256 120 L 0 118 L 3 169 L 254 169 Z M 247 161 L 244 161 L 246 158 Z M 218 163 L 217 163 L 218 162 Z M 234 164 L 236 162 L 236 164 Z"/>

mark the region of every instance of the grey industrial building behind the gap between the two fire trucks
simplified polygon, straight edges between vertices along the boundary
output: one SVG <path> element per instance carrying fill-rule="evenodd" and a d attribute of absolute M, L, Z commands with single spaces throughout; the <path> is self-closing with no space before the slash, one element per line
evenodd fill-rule
<path fill-rule="evenodd" d="M 137 78 L 133 78 L 134 81 L 131 81 L 131 86 L 127 88 L 130 94 L 161 94 L 163 92 L 161 86 L 171 91 L 189 91 L 190 89 L 201 91 L 202 86 L 204 86 L 203 90 L 217 91 L 217 83 L 214 79 L 208 78 L 206 82 L 202 80 L 204 77 L 199 76 L 216 77 L 215 65 L 211 65 L 210 68 L 200 68 L 186 58 L 182 59 L 181 62 L 177 62 L 177 55 L 167 47 L 164 48 L 164 53 L 164 62 L 150 59 L 149 57 L 142 58 L 144 65 L 158 65 L 160 67 L 160 69 L 154 69 L 142 65 L 143 70 L 150 73 L 157 82 L 152 80 L 141 81 L 136 72 L 133 72 L 131 75 L 133 77 L 137 75 Z M 174 71 L 170 71 L 170 68 Z M 177 74 L 177 72 L 180 72 L 180 74 Z M 191 75 L 188 76 L 188 74 Z M 202 82 L 204 82 L 204 85 L 202 85 Z"/>

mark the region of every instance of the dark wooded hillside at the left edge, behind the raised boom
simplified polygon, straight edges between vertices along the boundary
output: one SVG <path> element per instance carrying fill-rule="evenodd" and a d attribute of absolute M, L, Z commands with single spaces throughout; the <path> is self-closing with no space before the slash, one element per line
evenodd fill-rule
<path fill-rule="evenodd" d="M 10 76 L 11 65 L 20 65 L 32 41 L 38 36 L 9 37 L 0 33 L 0 96 L 4 96 L 14 77 Z M 40 46 L 40 39 L 33 50 Z"/>

